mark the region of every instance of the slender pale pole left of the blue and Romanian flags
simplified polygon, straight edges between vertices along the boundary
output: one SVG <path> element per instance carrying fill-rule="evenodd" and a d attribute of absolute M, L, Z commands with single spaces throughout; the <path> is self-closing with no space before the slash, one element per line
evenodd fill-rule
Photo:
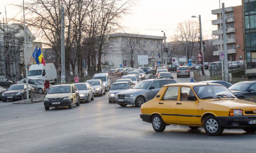
<path fill-rule="evenodd" d="M 26 87 L 27 87 L 27 101 L 29 101 L 29 83 L 28 83 L 28 72 L 27 72 L 27 31 L 25 25 L 25 9 L 24 9 L 24 0 L 23 0 L 23 24 L 24 24 L 24 55 L 25 55 L 25 69 L 26 69 Z"/>

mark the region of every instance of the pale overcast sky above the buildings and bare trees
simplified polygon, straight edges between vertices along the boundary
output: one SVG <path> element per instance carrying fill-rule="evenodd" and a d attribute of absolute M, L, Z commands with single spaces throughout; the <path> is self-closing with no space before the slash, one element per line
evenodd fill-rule
<path fill-rule="evenodd" d="M 0 0 L 0 20 L 5 18 L 6 6 L 7 19 L 15 17 L 18 13 L 10 4 L 22 4 L 22 0 Z M 29 0 L 24 0 L 28 2 Z M 242 0 L 220 0 L 225 7 L 238 6 Z M 220 4 L 221 5 L 221 4 Z M 164 31 L 167 41 L 176 33 L 178 23 L 185 20 L 195 20 L 192 15 L 201 15 L 202 33 L 205 39 L 212 39 L 211 31 L 217 26 L 211 25 L 211 20 L 216 20 L 216 15 L 211 15 L 211 10 L 219 8 L 219 0 L 136 0 L 129 14 L 120 20 L 122 31 L 141 35 L 163 36 Z M 121 30 L 118 32 L 122 32 Z"/>

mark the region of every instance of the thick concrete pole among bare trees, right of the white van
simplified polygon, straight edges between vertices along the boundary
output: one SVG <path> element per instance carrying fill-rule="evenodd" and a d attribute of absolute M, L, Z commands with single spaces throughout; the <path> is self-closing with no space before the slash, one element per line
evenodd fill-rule
<path fill-rule="evenodd" d="M 61 7 L 61 83 L 65 83 L 64 7 Z"/>

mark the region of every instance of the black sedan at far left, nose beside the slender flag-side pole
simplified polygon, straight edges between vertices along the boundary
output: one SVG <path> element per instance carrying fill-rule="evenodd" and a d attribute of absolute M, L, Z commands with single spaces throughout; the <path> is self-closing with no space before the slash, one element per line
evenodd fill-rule
<path fill-rule="evenodd" d="M 34 88 L 29 86 L 29 98 L 31 93 L 34 92 Z M 2 93 L 2 101 L 6 102 L 8 100 L 23 100 L 27 98 L 27 85 L 25 84 L 15 84 L 11 85 L 8 90 Z"/>

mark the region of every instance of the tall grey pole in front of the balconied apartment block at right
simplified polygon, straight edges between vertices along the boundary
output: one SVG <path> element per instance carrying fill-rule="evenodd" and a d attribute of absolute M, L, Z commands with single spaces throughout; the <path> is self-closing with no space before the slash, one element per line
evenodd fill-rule
<path fill-rule="evenodd" d="M 225 15 L 225 4 L 222 3 L 222 24 L 223 24 L 223 51 L 225 54 L 224 60 L 224 77 L 225 81 L 228 81 L 228 67 L 227 67 L 227 35 L 226 35 L 226 15 Z"/>

